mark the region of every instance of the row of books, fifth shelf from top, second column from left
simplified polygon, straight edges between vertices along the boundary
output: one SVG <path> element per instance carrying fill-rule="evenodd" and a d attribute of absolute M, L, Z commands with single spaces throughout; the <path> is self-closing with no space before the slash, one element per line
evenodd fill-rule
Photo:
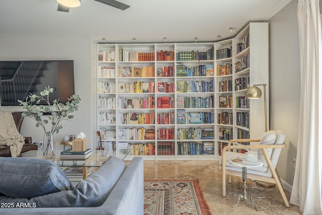
<path fill-rule="evenodd" d="M 154 124 L 154 113 L 119 113 L 120 124 Z"/>

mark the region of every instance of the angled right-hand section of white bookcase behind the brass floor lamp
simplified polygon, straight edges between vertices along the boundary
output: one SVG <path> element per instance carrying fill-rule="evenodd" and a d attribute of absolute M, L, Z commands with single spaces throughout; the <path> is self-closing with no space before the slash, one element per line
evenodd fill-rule
<path fill-rule="evenodd" d="M 265 132 L 264 96 L 259 100 L 247 99 L 246 91 L 255 84 L 267 84 L 269 119 L 268 23 L 250 23 L 234 38 L 216 42 L 215 47 L 216 50 L 230 48 L 230 56 L 215 61 L 216 84 L 224 89 L 216 89 L 219 101 L 216 114 L 220 117 L 215 128 L 218 133 L 216 147 L 217 155 L 220 155 L 229 139 L 261 138 Z M 227 69 L 228 66 L 231 69 Z M 228 84 L 230 81 L 232 88 Z M 263 86 L 259 88 L 263 93 Z M 231 96 L 232 107 L 220 105 L 220 100 L 224 101 L 228 96 Z"/>

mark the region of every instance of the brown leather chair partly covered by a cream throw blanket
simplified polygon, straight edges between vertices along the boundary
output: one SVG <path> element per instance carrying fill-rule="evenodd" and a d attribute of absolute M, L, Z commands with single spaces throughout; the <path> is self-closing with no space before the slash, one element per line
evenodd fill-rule
<path fill-rule="evenodd" d="M 14 121 L 17 126 L 17 130 L 20 132 L 22 121 L 24 117 L 22 117 L 22 112 L 13 112 L 12 115 L 14 117 Z M 31 137 L 25 137 L 25 144 L 21 150 L 21 153 L 28 152 L 30 150 L 38 150 L 38 146 L 32 143 Z M 10 148 L 7 146 L 0 146 L 0 157 L 11 157 Z"/>

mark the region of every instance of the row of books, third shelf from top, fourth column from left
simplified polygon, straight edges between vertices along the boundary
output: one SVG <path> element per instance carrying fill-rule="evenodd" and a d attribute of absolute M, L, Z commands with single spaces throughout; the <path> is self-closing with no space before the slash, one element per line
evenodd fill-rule
<path fill-rule="evenodd" d="M 177 81 L 177 93 L 213 93 L 215 81 Z"/>

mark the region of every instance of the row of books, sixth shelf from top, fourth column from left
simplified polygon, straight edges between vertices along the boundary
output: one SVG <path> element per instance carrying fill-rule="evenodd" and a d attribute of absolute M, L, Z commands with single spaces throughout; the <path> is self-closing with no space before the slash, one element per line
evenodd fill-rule
<path fill-rule="evenodd" d="M 213 139 L 213 128 L 178 128 L 178 139 Z"/>

